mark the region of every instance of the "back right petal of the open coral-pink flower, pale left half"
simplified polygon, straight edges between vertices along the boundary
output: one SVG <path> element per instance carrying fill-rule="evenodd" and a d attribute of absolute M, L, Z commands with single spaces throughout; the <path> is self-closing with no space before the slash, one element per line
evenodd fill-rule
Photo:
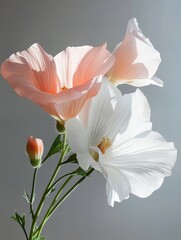
<path fill-rule="evenodd" d="M 55 56 L 62 88 L 79 86 L 96 76 L 104 75 L 113 62 L 114 56 L 106 49 L 106 44 L 99 47 L 68 47 Z"/>

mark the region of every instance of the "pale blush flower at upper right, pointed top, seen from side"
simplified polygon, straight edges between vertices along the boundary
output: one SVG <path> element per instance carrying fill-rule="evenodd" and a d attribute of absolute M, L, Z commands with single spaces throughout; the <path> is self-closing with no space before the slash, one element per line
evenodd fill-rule
<path fill-rule="evenodd" d="M 115 62 L 107 73 L 111 82 L 137 87 L 149 84 L 163 86 L 162 81 L 155 76 L 161 62 L 160 54 L 143 35 L 135 18 L 128 22 L 124 40 L 113 54 Z"/>

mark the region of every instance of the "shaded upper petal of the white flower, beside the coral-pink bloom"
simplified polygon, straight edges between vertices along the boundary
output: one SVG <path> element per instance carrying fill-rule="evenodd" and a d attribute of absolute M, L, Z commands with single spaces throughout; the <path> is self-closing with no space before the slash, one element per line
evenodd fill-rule
<path fill-rule="evenodd" d="M 88 129 L 90 145 L 97 146 L 103 137 L 112 141 L 120 129 L 126 129 L 130 114 L 131 95 L 122 96 L 112 83 L 103 78 L 99 94 L 80 113 Z"/>

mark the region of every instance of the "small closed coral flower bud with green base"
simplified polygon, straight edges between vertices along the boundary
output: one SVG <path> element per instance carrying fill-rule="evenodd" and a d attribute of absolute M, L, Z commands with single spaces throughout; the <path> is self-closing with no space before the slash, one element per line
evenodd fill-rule
<path fill-rule="evenodd" d="M 42 162 L 43 141 L 30 136 L 26 145 L 26 152 L 30 158 L 30 163 L 34 168 L 38 168 Z"/>

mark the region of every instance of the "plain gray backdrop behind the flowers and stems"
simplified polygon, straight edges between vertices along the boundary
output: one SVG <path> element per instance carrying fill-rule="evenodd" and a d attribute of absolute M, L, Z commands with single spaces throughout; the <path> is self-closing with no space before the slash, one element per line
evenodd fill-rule
<path fill-rule="evenodd" d="M 179 240 L 181 239 L 181 1 L 179 0 L 1 0 L 0 61 L 39 42 L 52 55 L 68 45 L 108 48 L 123 38 L 127 22 L 136 17 L 144 34 L 162 56 L 158 76 L 164 88 L 142 88 L 151 109 L 154 130 L 174 141 L 178 159 L 172 176 L 147 199 L 131 196 L 111 208 L 105 180 L 87 179 L 56 212 L 44 231 L 50 240 Z M 0 79 L 0 239 L 25 239 L 10 219 L 14 210 L 28 211 L 22 198 L 30 188 L 32 169 L 25 156 L 29 135 L 40 137 L 45 149 L 56 136 L 54 120 L 38 106 L 18 97 Z M 127 90 L 124 88 L 124 91 Z M 131 89 L 132 91 L 133 89 Z M 39 188 L 51 166 L 39 175 Z"/>

